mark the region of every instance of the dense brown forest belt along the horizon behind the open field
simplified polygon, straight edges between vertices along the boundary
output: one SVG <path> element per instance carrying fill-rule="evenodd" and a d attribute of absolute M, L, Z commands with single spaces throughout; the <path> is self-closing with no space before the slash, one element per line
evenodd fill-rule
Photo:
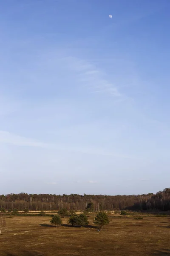
<path fill-rule="evenodd" d="M 142 195 L 52 195 L 52 194 L 8 194 L 0 195 L 0 208 L 29 209 L 32 211 L 84 210 L 88 203 L 99 210 L 168 211 L 170 210 L 170 188 L 156 194 Z"/>

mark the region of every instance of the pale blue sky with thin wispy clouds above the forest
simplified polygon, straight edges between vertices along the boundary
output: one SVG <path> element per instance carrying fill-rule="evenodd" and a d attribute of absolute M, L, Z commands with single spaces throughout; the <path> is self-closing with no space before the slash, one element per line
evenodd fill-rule
<path fill-rule="evenodd" d="M 169 10 L 169 0 L 1 1 L 0 194 L 170 186 Z"/>

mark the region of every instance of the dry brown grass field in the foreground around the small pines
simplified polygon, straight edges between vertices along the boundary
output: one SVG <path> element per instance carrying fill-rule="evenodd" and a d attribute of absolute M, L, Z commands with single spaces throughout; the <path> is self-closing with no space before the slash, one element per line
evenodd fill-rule
<path fill-rule="evenodd" d="M 55 228 L 51 217 L 6 216 L 0 236 L 0 256 L 162 256 L 170 255 L 170 217 L 115 218 L 98 232 L 89 227 L 71 227 L 68 218 Z M 91 229 L 91 225 L 94 226 Z M 108 228 L 108 230 L 107 230 Z"/>

